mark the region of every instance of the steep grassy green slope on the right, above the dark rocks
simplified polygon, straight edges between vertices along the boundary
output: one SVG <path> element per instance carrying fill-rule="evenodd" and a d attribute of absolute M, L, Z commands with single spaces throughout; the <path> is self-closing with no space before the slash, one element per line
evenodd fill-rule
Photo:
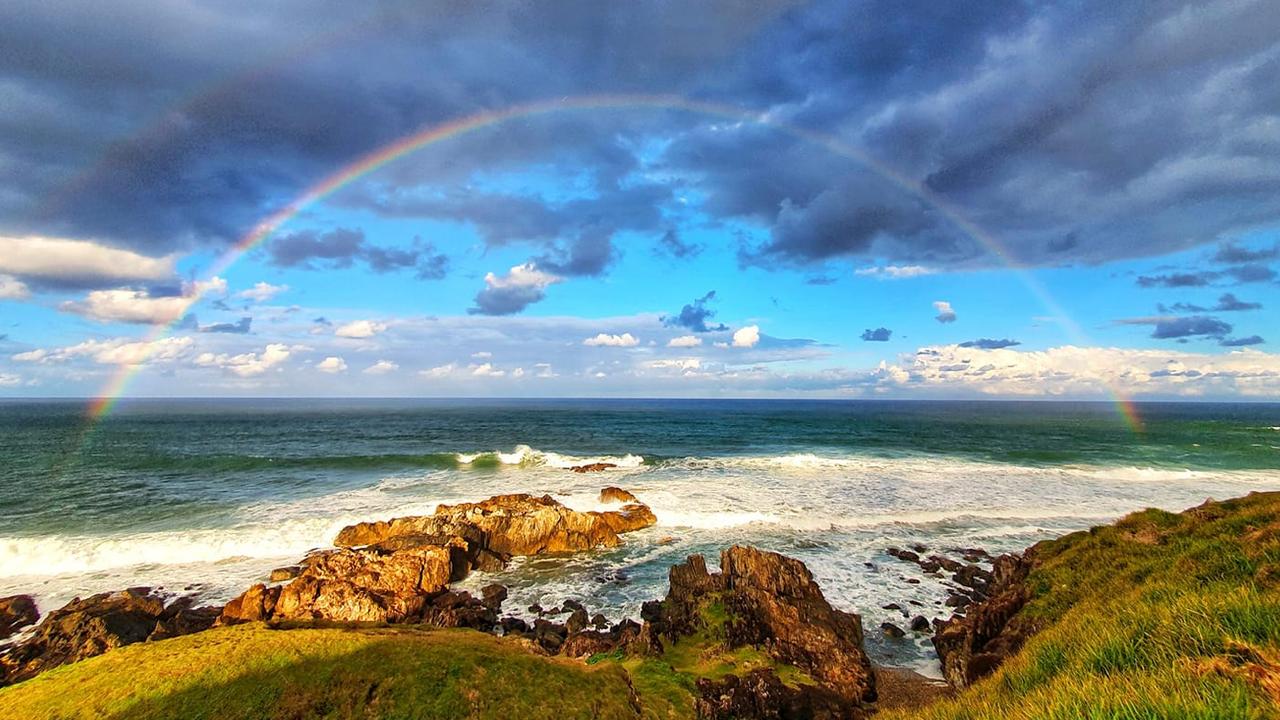
<path fill-rule="evenodd" d="M 1280 717 L 1280 493 L 1042 543 L 1043 630 L 956 698 L 890 719 Z"/>

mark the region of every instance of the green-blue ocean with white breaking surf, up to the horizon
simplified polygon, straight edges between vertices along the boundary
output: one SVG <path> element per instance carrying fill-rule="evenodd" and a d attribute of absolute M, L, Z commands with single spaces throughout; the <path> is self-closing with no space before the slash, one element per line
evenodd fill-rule
<path fill-rule="evenodd" d="M 439 502 L 635 492 L 658 525 L 622 547 L 515 561 L 463 587 L 504 606 L 566 598 L 611 620 L 662 597 L 667 569 L 750 543 L 804 560 L 863 615 L 883 664 L 936 674 L 886 603 L 946 616 L 941 578 L 891 546 L 993 553 L 1143 507 L 1280 489 L 1280 405 L 728 400 L 132 400 L 0 402 L 0 596 L 42 610 L 163 587 L 223 602 L 346 524 Z M 585 462 L 618 465 L 577 474 Z M 918 584 L 908 579 L 920 580 Z"/>

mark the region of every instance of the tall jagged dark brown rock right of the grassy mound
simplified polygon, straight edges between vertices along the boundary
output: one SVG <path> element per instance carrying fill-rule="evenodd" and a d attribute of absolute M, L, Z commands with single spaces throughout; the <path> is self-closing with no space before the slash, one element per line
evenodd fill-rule
<path fill-rule="evenodd" d="M 727 647 L 754 646 L 773 660 L 795 666 L 820 687 L 858 706 L 876 700 L 876 675 L 863 651 L 858 615 L 836 610 L 799 560 L 753 547 L 721 553 L 721 573 L 708 573 L 701 556 L 671 569 L 671 589 L 660 606 L 644 609 L 650 626 L 640 633 L 641 650 L 653 652 L 654 637 L 680 642 L 707 624 L 707 611 L 721 603 Z"/>

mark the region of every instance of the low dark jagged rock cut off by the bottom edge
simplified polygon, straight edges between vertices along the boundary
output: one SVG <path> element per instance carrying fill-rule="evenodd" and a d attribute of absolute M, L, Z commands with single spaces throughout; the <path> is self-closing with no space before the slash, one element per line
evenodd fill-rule
<path fill-rule="evenodd" d="M 788 687 L 772 669 L 721 680 L 698 679 L 698 717 L 704 720 L 823 719 L 854 720 L 868 716 L 840 694 L 818 685 Z"/>

